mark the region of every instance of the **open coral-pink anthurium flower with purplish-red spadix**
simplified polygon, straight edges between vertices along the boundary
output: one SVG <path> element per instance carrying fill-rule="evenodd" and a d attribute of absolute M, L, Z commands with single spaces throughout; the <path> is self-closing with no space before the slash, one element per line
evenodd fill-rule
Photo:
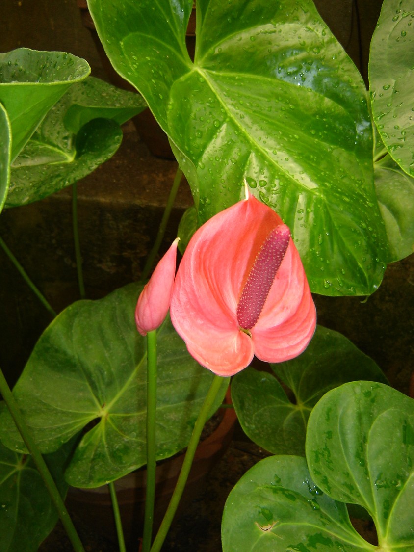
<path fill-rule="evenodd" d="M 252 195 L 213 216 L 179 265 L 171 320 L 190 354 L 230 376 L 253 355 L 282 362 L 306 348 L 316 312 L 289 228 Z"/>

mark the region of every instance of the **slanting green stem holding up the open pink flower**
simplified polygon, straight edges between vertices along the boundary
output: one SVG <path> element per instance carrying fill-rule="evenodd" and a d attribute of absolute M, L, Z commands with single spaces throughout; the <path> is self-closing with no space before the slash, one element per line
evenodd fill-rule
<path fill-rule="evenodd" d="M 171 497 L 171 501 L 169 502 L 169 505 L 167 508 L 167 512 L 165 513 L 164 518 L 162 520 L 161 527 L 160 529 L 158 529 L 157 536 L 155 537 L 155 540 L 152 544 L 151 552 L 159 552 L 167 536 L 168 529 L 171 526 L 173 517 L 177 511 L 178 503 L 181 499 L 185 484 L 188 479 L 188 475 L 190 473 L 190 469 L 194 459 L 194 454 L 197 449 L 198 442 L 200 440 L 201 431 L 203 431 L 203 427 L 205 425 L 205 422 L 207 421 L 209 412 L 211 410 L 211 406 L 214 403 L 214 400 L 217 396 L 217 392 L 219 392 L 221 385 L 222 385 L 221 376 L 214 376 L 214 379 L 211 382 L 208 394 L 205 397 L 203 406 L 201 406 L 201 410 L 199 412 L 197 421 L 195 422 L 193 433 L 190 438 L 190 442 L 188 443 L 187 452 L 185 453 L 183 466 L 181 468 L 181 472 L 178 477 L 176 488 L 174 489 L 173 495 Z"/>

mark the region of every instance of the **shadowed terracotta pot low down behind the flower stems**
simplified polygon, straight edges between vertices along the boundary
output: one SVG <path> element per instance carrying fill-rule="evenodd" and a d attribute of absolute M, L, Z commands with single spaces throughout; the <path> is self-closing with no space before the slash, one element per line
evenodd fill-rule
<path fill-rule="evenodd" d="M 230 404 L 230 392 L 227 393 L 226 402 Z M 199 443 L 177 516 L 204 490 L 205 480 L 210 470 L 219 462 L 227 447 L 229 447 L 237 419 L 236 413 L 233 408 L 221 408 L 219 413 L 222 416 L 219 425 L 210 436 Z M 159 527 L 167 509 L 183 461 L 184 453 L 163 460 L 157 466 L 155 530 Z M 125 541 L 134 550 L 136 550 L 138 539 L 142 535 L 145 487 L 146 470 L 144 468 L 121 477 L 115 482 Z M 95 489 L 70 487 L 66 504 L 71 513 L 87 521 L 88 527 L 116 542 L 116 530 L 108 486 L 105 485 Z"/>

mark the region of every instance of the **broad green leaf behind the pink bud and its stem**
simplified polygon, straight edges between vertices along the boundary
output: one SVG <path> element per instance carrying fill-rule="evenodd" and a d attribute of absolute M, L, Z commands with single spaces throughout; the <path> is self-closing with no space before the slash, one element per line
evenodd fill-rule
<path fill-rule="evenodd" d="M 66 479 L 95 487 L 146 462 L 146 339 L 135 326 L 141 286 L 131 284 L 98 301 L 78 301 L 46 328 L 13 394 L 42 452 L 79 431 Z M 167 320 L 158 332 L 157 459 L 184 448 L 214 375 L 190 357 Z M 211 414 L 220 405 L 229 380 Z M 0 437 L 23 443 L 7 412 Z"/>

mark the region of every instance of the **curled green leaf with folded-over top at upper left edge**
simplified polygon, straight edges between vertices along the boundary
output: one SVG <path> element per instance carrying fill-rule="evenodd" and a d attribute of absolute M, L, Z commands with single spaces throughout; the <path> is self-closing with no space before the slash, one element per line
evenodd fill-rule
<path fill-rule="evenodd" d="M 90 71 L 85 60 L 66 52 L 18 48 L 0 54 L 0 102 L 12 126 L 12 161 L 52 105 Z"/>

